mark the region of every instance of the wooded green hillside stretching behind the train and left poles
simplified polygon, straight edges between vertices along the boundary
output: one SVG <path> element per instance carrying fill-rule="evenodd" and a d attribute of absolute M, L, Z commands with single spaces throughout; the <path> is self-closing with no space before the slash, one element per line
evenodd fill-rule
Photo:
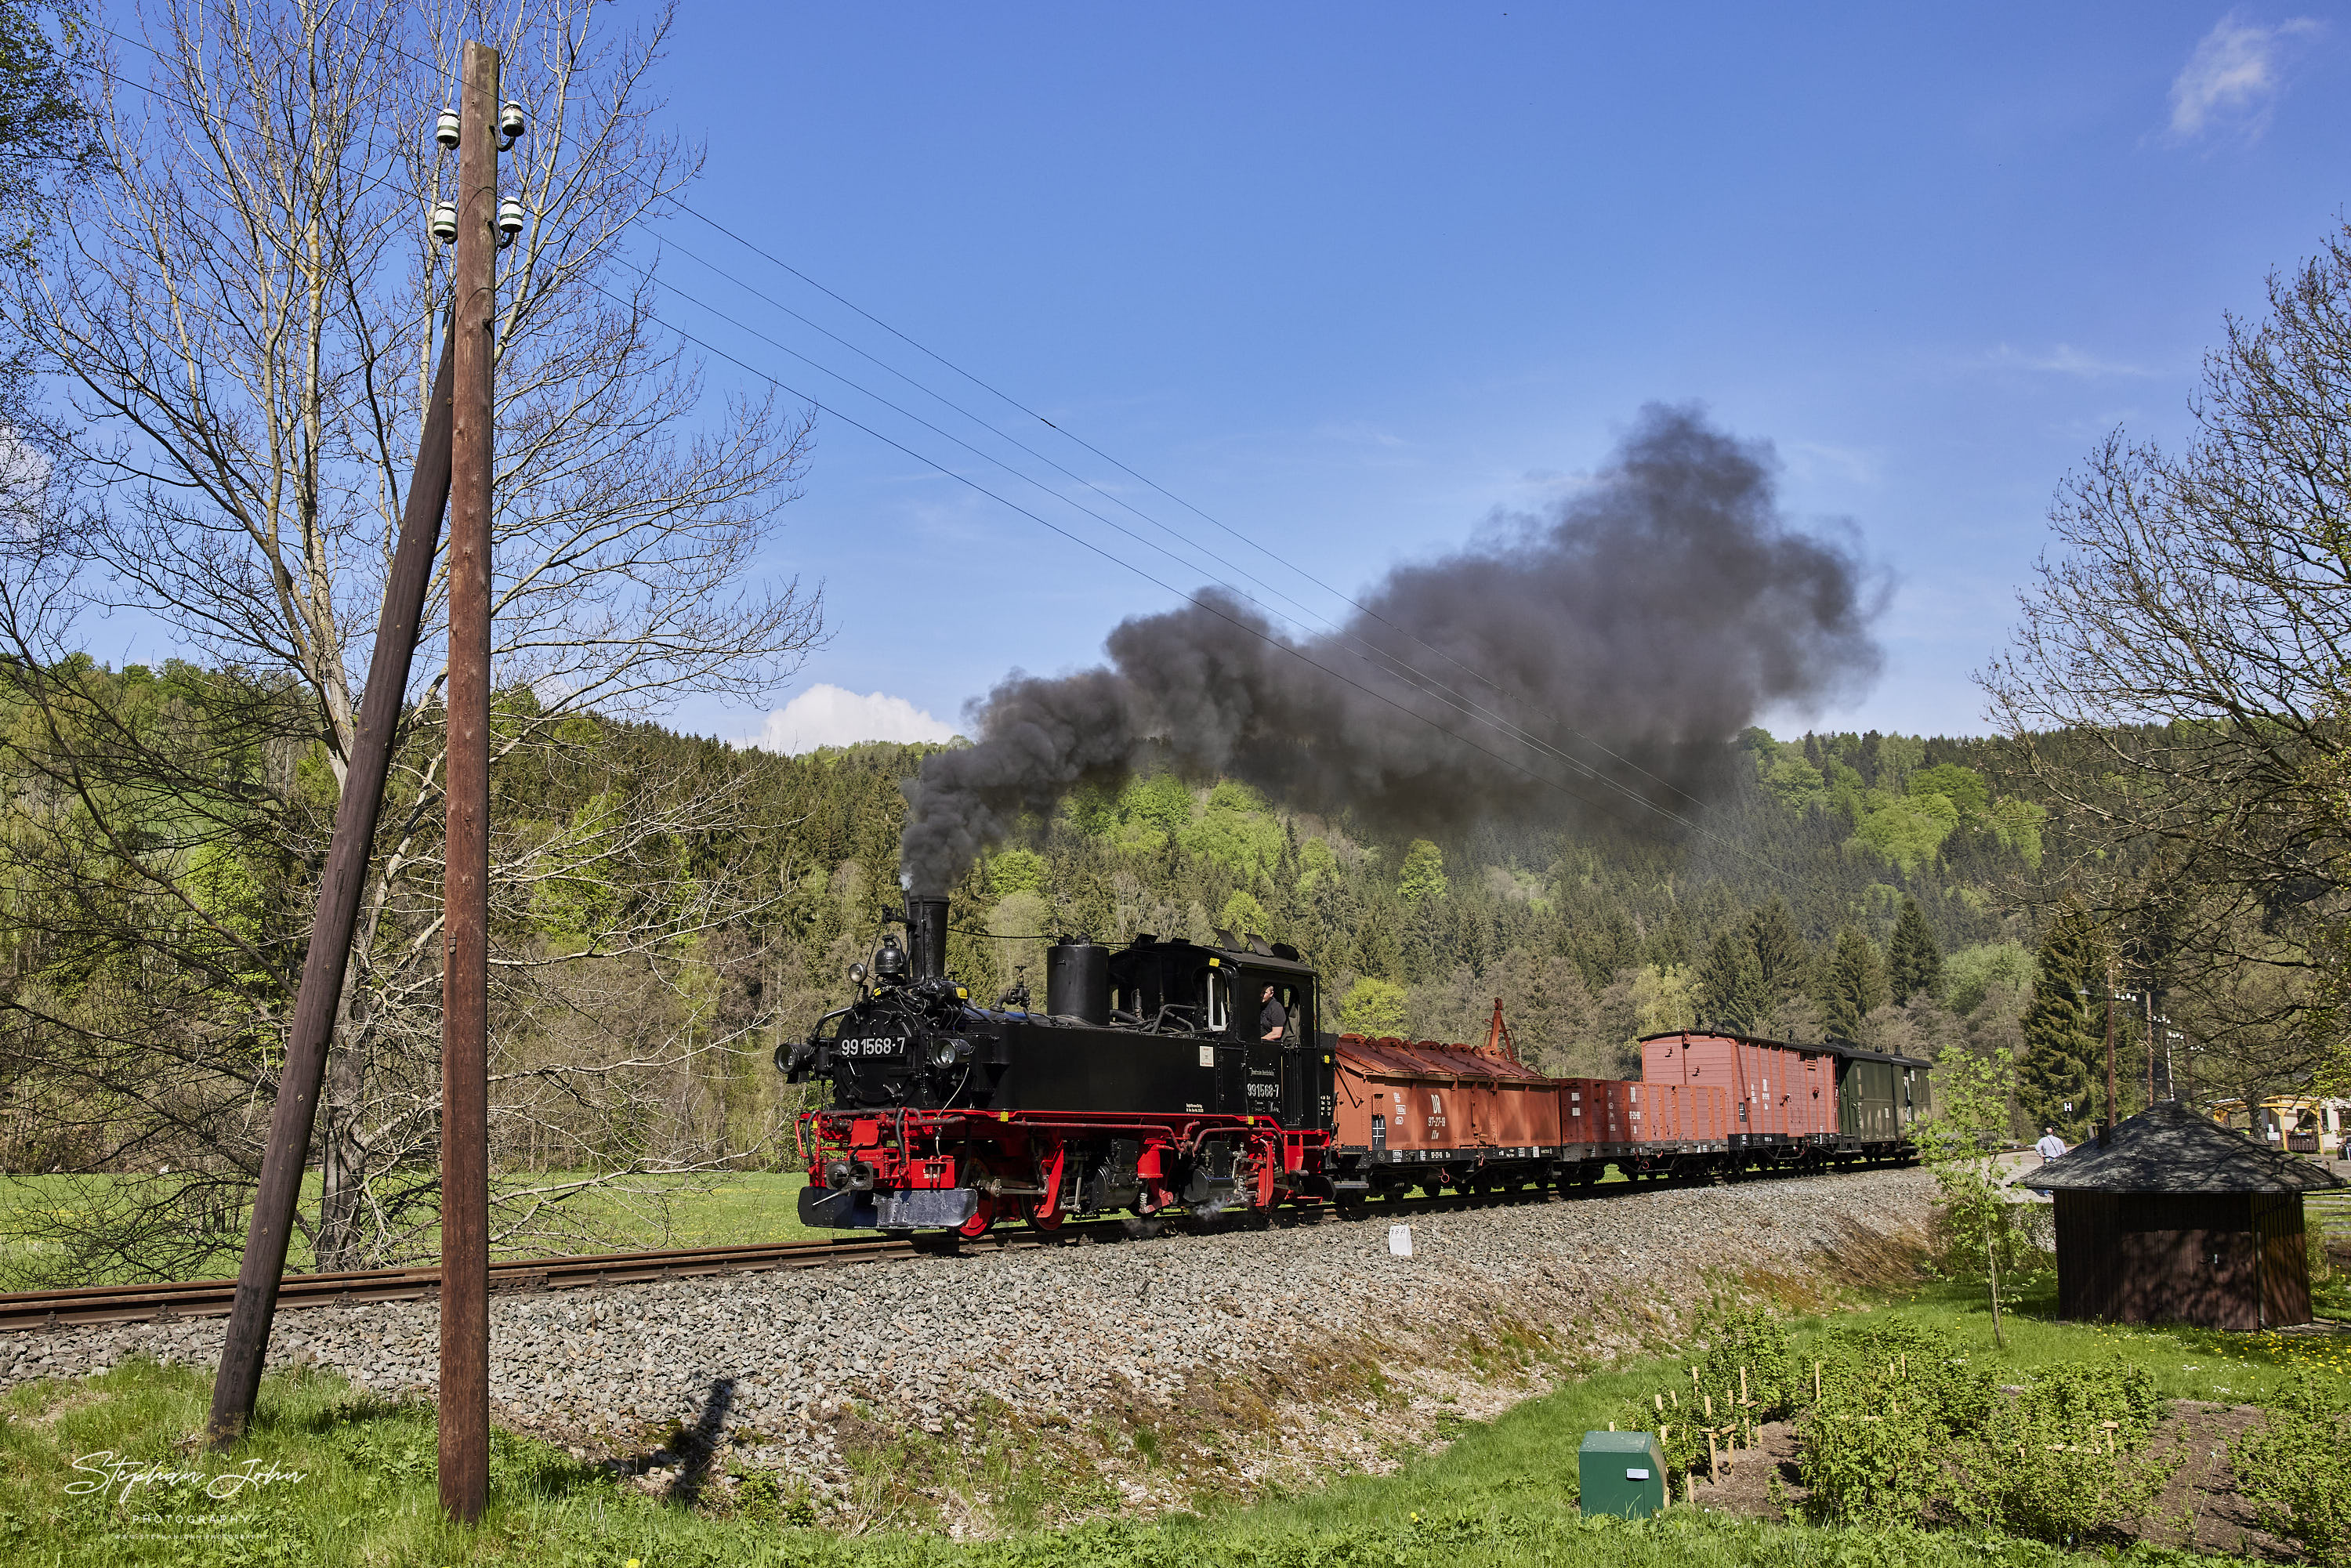
<path fill-rule="evenodd" d="M 336 771 L 299 701 L 237 672 L 16 675 L 0 1166 L 94 1182 L 12 1222 L 61 1276 L 197 1269 L 242 1234 Z M 677 1175 L 788 1161 L 799 1091 L 771 1051 L 849 997 L 900 903 L 900 783 L 926 748 L 776 757 L 538 722 L 524 691 L 496 726 L 498 1225 L 543 1248 L 616 1213 L 588 1185 L 658 1208 Z M 341 1265 L 414 1255 L 435 1222 L 440 748 L 418 710 L 331 1051 L 315 1255 Z M 1549 820 L 1422 837 L 1145 766 L 971 867 L 950 964 L 992 999 L 1041 990 L 1058 933 L 1230 929 L 1310 954 L 1340 1027 L 1483 1039 L 1500 999 L 1559 1072 L 1627 1072 L 1632 1039 L 1695 1023 L 2015 1053 L 2036 933 L 2005 900 L 2043 823 L 1994 762 L 1975 741 L 1749 731 L 1681 820 L 1561 797 Z"/>

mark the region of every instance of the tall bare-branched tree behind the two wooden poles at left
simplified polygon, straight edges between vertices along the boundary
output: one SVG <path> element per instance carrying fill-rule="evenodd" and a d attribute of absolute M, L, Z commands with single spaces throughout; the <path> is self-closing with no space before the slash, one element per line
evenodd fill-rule
<path fill-rule="evenodd" d="M 165 0 L 143 26 L 153 92 L 94 106 L 99 179 L 12 299 L 71 407 L 28 442 L 78 484 L 0 604 L 26 780 L 7 875 L 52 926 L 0 999 L 16 1058 L 73 1105 L 73 1164 L 172 1150 L 200 1166 L 172 1201 L 207 1213 L 256 1168 L 447 299 L 423 216 L 454 165 L 428 132 L 458 40 L 487 35 L 531 118 L 503 160 L 529 223 L 496 315 L 494 1100 L 501 1147 L 536 1126 L 529 1164 L 583 1171 L 513 1185 L 508 1241 L 543 1239 L 583 1182 L 741 1152 L 686 1086 L 752 1027 L 712 1023 L 691 971 L 773 889 L 686 863 L 738 823 L 722 771 L 637 757 L 552 816 L 513 780 L 609 766 L 607 722 L 797 668 L 818 599 L 755 557 L 809 418 L 712 414 L 628 261 L 698 165 L 651 125 L 668 14 L 611 33 L 590 0 Z M 442 588 L 329 1056 L 320 1267 L 430 1246 Z M 197 668 L 125 708 L 73 658 L 87 609 Z M 115 1208 L 113 1237 L 158 1229 L 155 1204 Z M 148 1272 L 172 1253 L 75 1246 Z"/>

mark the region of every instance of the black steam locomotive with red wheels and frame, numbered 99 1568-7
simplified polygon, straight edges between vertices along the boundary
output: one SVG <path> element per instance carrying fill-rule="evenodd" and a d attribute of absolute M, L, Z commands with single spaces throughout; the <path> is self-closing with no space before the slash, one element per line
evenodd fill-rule
<path fill-rule="evenodd" d="M 802 1119 L 806 1225 L 978 1234 L 1338 1194 L 1333 1041 L 1295 947 L 1063 938 L 1044 1009 L 980 1006 L 945 973 L 947 900 L 910 900 L 903 924 L 858 999 L 778 1051 L 835 1091 Z"/>

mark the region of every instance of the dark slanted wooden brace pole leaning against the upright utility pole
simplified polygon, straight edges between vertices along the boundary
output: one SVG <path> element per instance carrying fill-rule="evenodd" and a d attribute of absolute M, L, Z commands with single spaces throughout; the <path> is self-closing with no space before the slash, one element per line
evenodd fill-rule
<path fill-rule="evenodd" d="M 416 473 L 409 477 L 409 501 L 400 512 L 393 576 L 383 585 L 376 654 L 360 696 L 360 733 L 343 773 L 343 799 L 334 811 L 334 839 L 327 846 L 327 875 L 320 879 L 317 910 L 310 917 L 301 990 L 294 992 L 294 1025 L 287 1034 L 287 1060 L 277 1070 L 270 1143 L 261 1154 L 261 1187 L 254 1192 L 245 1260 L 237 1265 L 237 1300 L 228 1312 L 221 1371 L 212 1380 L 212 1420 L 205 1436 L 214 1448 L 235 1443 L 254 1418 L 270 1321 L 277 1316 L 277 1279 L 287 1267 L 294 1204 L 301 1199 L 301 1175 L 310 1161 L 310 1124 L 317 1119 L 327 1041 L 334 1037 L 334 1016 L 343 1001 L 350 933 L 360 917 L 360 891 L 367 886 L 376 816 L 383 809 L 383 776 L 390 771 L 400 703 L 409 689 L 416 625 L 423 621 L 433 552 L 440 548 L 442 508 L 449 505 L 449 369 L 444 329 L 440 367 L 433 371 L 433 402 L 426 404 L 423 440 L 416 447 Z"/>

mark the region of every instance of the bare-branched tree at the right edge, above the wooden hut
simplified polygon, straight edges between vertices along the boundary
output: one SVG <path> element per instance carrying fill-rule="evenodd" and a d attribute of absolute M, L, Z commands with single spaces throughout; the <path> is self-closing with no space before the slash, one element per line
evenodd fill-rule
<path fill-rule="evenodd" d="M 2248 1095 L 2342 1056 L 2351 919 L 2351 230 L 2229 320 L 2179 451 L 2111 435 L 1980 684 L 2095 889 Z"/>

